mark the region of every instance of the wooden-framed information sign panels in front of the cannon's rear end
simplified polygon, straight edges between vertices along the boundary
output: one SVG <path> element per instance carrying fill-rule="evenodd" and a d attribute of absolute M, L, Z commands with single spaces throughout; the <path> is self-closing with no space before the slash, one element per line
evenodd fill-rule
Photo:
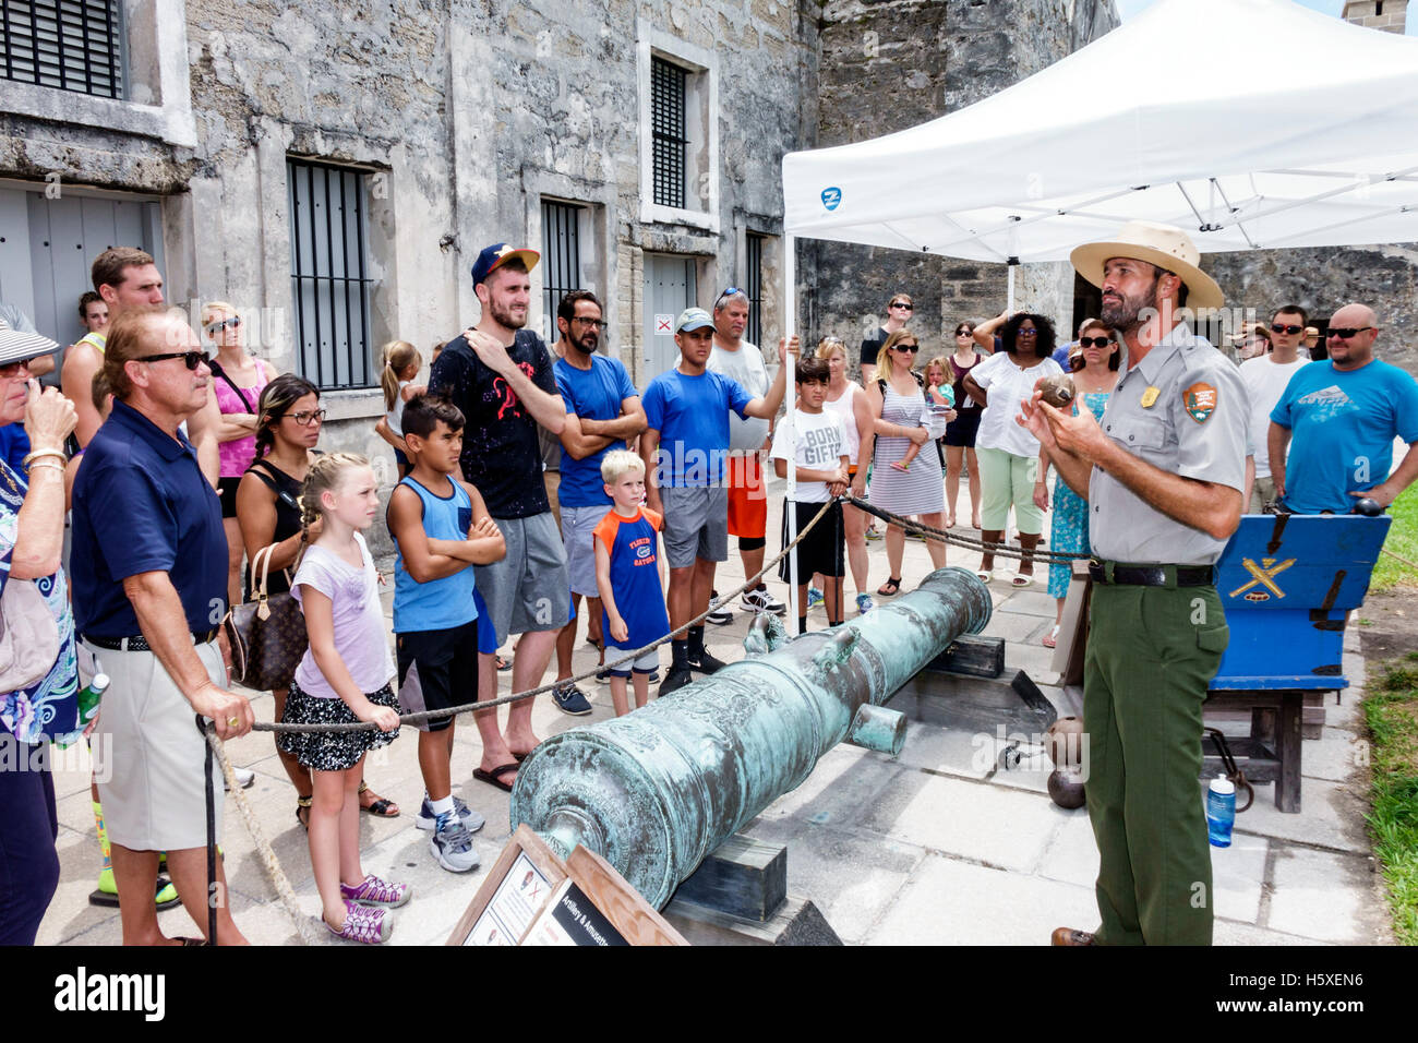
<path fill-rule="evenodd" d="M 579 935 L 574 942 L 560 944 L 689 944 L 601 856 L 577 846 L 563 861 L 523 823 L 502 849 L 445 945 L 537 945 L 550 934 L 566 938 L 549 921 L 559 905 L 574 912 L 580 897 L 604 918 L 607 929 L 586 932 L 594 941 L 580 941 Z M 607 932 L 613 938 L 605 938 Z"/>

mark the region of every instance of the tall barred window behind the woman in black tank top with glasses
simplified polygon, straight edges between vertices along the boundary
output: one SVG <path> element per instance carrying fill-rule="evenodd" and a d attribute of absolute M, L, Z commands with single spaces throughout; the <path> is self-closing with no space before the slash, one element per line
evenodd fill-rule
<path fill-rule="evenodd" d="M 320 390 L 373 387 L 367 175 L 286 160 L 291 292 L 301 373 Z"/>

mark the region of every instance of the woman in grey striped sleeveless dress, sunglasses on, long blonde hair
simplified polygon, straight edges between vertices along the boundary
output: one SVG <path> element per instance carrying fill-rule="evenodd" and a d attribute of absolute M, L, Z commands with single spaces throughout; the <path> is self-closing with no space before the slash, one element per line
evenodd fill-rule
<path fill-rule="evenodd" d="M 936 454 L 919 454 L 910 461 L 908 471 L 891 467 L 893 460 L 905 456 L 909 443 L 923 446 L 930 438 L 930 431 L 922 426 L 927 419 L 925 382 L 915 372 L 919 352 L 920 342 L 915 333 L 905 329 L 892 333 L 876 356 L 876 379 L 866 385 L 872 429 L 876 433 L 869 500 L 883 511 L 919 515 L 925 525 L 943 528 L 946 491 Z M 953 419 L 953 412 L 946 414 L 947 421 Z M 876 587 L 882 597 L 900 592 L 905 548 L 906 531 L 900 525 L 888 525 L 886 562 L 891 565 L 891 575 Z M 946 545 L 940 541 L 927 539 L 926 551 L 937 569 L 946 563 Z"/>

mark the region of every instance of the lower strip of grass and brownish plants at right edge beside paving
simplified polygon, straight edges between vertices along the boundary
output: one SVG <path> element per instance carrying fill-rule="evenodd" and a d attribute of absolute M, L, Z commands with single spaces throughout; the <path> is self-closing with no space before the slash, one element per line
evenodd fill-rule
<path fill-rule="evenodd" d="M 1418 945 L 1418 653 L 1390 663 L 1364 700 L 1373 738 L 1374 854 L 1388 884 L 1394 934 Z"/>

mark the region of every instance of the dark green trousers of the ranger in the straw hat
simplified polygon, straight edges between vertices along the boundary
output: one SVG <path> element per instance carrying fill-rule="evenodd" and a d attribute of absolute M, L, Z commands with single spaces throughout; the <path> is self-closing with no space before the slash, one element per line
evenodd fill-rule
<path fill-rule="evenodd" d="M 1095 583 L 1083 667 L 1100 945 L 1210 945 L 1201 704 L 1229 631 L 1214 586 Z"/>

